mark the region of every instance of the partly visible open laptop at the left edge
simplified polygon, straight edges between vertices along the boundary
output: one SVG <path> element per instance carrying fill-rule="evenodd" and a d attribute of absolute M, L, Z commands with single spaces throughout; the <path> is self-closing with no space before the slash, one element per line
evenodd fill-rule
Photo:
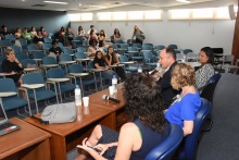
<path fill-rule="evenodd" d="M 9 122 L 5 111 L 2 104 L 0 103 L 0 136 L 14 132 L 18 128 L 21 128 L 18 125 Z"/>

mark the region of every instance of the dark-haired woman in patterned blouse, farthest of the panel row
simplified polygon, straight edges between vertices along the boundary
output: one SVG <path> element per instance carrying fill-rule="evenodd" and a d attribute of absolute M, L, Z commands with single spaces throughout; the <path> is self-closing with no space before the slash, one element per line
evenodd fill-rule
<path fill-rule="evenodd" d="M 199 53 L 199 70 L 196 72 L 196 87 L 201 88 L 206 85 L 210 77 L 214 75 L 214 53 L 210 47 L 204 47 Z"/>

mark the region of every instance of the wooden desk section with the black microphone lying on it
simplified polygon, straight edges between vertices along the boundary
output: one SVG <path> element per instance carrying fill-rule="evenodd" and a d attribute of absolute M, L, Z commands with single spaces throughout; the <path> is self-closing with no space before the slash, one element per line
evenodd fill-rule
<path fill-rule="evenodd" d="M 110 95 L 109 88 L 89 96 L 89 103 L 98 104 L 100 107 L 108 108 L 114 111 L 113 114 L 115 118 L 115 122 L 116 122 L 115 125 L 117 131 L 120 131 L 121 126 L 126 122 L 125 100 L 123 97 L 122 88 L 123 88 L 123 84 L 118 84 L 117 94 L 114 94 L 113 96 L 113 98 L 121 100 L 120 103 L 102 99 L 103 95 L 108 95 L 108 96 Z"/>

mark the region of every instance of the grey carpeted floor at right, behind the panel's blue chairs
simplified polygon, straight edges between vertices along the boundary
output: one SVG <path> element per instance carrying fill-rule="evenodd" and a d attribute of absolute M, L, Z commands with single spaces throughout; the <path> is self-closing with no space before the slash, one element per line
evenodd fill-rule
<path fill-rule="evenodd" d="M 214 93 L 213 127 L 203 133 L 197 160 L 236 160 L 239 155 L 239 75 L 223 74 Z"/>

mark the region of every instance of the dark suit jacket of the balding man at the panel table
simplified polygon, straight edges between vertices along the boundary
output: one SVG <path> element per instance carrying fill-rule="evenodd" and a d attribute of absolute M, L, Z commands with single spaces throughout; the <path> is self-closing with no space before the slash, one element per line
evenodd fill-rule
<path fill-rule="evenodd" d="M 166 71 L 163 74 L 163 77 L 161 77 L 158 81 L 158 84 L 161 86 L 162 88 L 162 96 L 164 99 L 164 107 L 165 109 L 167 109 L 169 107 L 169 104 L 172 103 L 172 99 L 179 94 L 178 90 L 173 89 L 172 85 L 171 85 L 171 72 L 173 70 L 173 67 L 177 64 L 177 62 L 174 62 L 171 67 L 168 69 L 168 71 Z"/>

